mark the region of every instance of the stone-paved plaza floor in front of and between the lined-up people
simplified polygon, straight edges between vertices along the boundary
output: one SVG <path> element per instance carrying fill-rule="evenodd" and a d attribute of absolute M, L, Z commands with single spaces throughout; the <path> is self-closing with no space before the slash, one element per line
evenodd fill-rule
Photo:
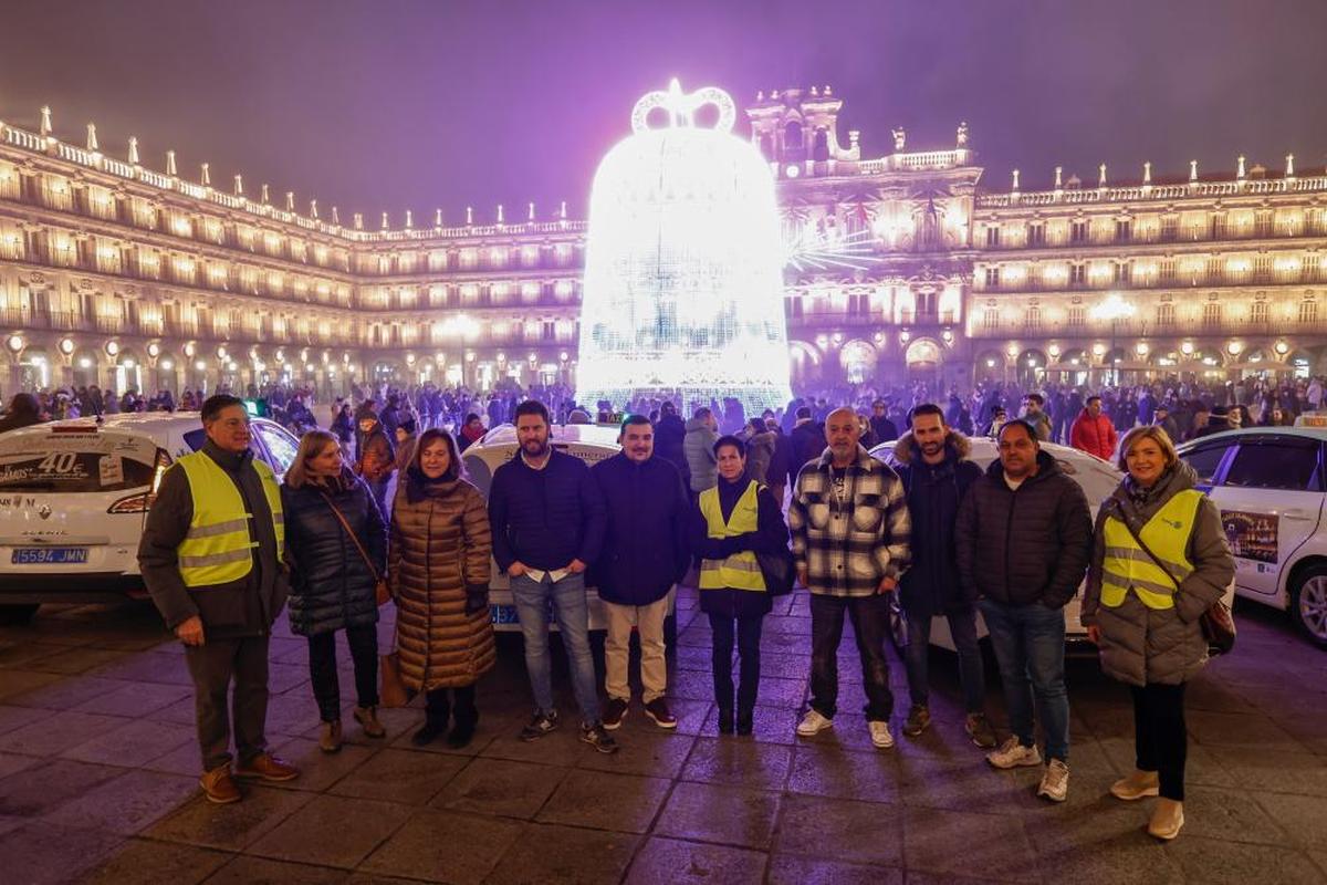
<path fill-rule="evenodd" d="M 1036 771 L 994 771 L 965 739 L 957 662 L 943 651 L 936 723 L 921 739 L 876 751 L 863 716 L 843 713 L 832 732 L 798 740 L 811 624 L 802 594 L 766 621 L 755 736 L 719 738 L 709 626 L 683 590 L 670 655 L 681 726 L 662 732 L 637 703 L 616 756 L 571 727 L 533 744 L 515 738 L 529 703 L 519 640 L 502 644 L 482 683 L 466 751 L 414 748 L 422 711 L 406 709 L 385 711 L 390 734 L 377 742 L 348 714 L 350 743 L 322 755 L 307 646 L 283 634 L 268 732 L 304 774 L 247 787 L 228 807 L 198 792 L 188 677 L 154 610 L 48 608 L 32 626 L 0 629 L 0 880 L 1322 882 L 1327 654 L 1275 612 L 1241 605 L 1237 616 L 1237 653 L 1190 686 L 1188 825 L 1162 845 L 1143 831 L 1148 803 L 1105 792 L 1132 767 L 1132 715 L 1125 690 L 1091 662 L 1070 667 L 1063 805 L 1034 796 Z M 847 711 L 864 702 L 855 655 L 847 637 Z M 900 666 L 893 682 L 897 735 Z M 350 685 L 342 667 L 348 706 Z M 573 714 L 565 667 L 557 685 Z"/>

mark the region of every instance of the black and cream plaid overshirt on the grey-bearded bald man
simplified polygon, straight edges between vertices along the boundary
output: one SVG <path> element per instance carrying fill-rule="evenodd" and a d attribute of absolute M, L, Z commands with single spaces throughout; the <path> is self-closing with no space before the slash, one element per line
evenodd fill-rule
<path fill-rule="evenodd" d="M 912 561 L 912 519 L 898 474 L 857 447 L 836 488 L 829 451 L 803 466 L 788 504 L 792 559 L 812 593 L 871 596 Z"/>

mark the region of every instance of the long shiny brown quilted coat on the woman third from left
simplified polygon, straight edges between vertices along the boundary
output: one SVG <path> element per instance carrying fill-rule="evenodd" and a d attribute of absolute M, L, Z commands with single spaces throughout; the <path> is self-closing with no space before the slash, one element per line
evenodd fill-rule
<path fill-rule="evenodd" d="M 421 484 L 405 474 L 391 508 L 387 580 L 407 689 L 474 685 L 496 661 L 488 609 L 466 614 L 466 586 L 488 586 L 492 535 L 483 495 L 463 479 Z"/>

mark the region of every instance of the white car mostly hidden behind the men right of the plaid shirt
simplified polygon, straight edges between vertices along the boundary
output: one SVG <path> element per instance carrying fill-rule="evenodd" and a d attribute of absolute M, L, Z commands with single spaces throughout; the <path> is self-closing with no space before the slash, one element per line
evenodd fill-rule
<path fill-rule="evenodd" d="M 991 462 L 999 458 L 999 447 L 994 439 L 990 437 L 971 437 L 969 438 L 971 443 L 971 454 L 969 459 L 981 467 L 983 471 L 991 464 Z M 876 446 L 871 450 L 871 454 L 893 466 L 893 450 L 894 443 L 886 442 Z M 1096 455 L 1089 455 L 1085 451 L 1079 451 L 1078 448 L 1070 448 L 1068 446 L 1060 446 L 1058 443 L 1042 443 L 1042 450 L 1048 452 L 1059 463 L 1060 470 L 1074 478 L 1079 486 L 1083 487 L 1083 494 L 1087 495 L 1087 502 L 1092 507 L 1093 524 L 1096 520 L 1096 512 L 1100 510 L 1101 504 L 1111 492 L 1120 484 L 1123 475 L 1120 471 L 1109 462 L 1101 460 Z M 1070 604 L 1064 606 L 1064 642 L 1071 653 L 1096 655 L 1096 646 L 1087 641 L 1087 629 L 1079 621 L 1079 606 L 1082 604 L 1082 593 L 1076 594 Z M 894 606 L 890 613 L 890 637 L 894 640 L 897 647 L 908 641 L 908 624 L 906 616 Z M 978 638 L 985 637 L 987 633 L 986 624 L 982 621 L 982 616 L 977 614 L 977 636 Z M 940 645 L 949 650 L 954 650 L 954 640 L 949 634 L 949 621 L 945 618 L 936 618 L 930 633 L 932 645 Z"/>

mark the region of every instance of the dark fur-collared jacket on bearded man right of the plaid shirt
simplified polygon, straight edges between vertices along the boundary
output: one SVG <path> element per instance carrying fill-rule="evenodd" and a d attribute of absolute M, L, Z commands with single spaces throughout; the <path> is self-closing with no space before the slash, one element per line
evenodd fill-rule
<path fill-rule="evenodd" d="M 967 437 L 950 430 L 945 460 L 928 464 L 909 430 L 894 443 L 893 467 L 908 494 L 912 516 L 912 567 L 900 581 L 900 601 L 910 617 L 932 617 L 971 605 L 958 577 L 954 521 L 958 507 L 982 468 L 967 460 Z"/>

